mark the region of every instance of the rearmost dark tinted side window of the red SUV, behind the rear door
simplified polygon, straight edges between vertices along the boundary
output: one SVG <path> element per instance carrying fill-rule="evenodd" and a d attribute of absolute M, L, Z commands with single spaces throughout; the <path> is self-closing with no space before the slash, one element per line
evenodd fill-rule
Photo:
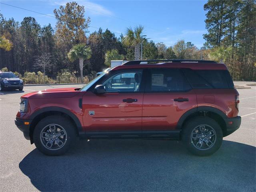
<path fill-rule="evenodd" d="M 185 69 L 184 73 L 194 89 L 234 88 L 228 70 Z"/>

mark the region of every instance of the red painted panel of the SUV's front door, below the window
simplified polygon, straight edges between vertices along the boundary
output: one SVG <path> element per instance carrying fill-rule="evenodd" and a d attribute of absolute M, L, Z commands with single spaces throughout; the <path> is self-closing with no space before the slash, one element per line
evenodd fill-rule
<path fill-rule="evenodd" d="M 137 102 L 127 103 L 123 99 Z M 83 96 L 83 123 L 86 131 L 141 130 L 143 93 L 86 92 Z M 89 111 L 94 111 L 93 116 Z"/>

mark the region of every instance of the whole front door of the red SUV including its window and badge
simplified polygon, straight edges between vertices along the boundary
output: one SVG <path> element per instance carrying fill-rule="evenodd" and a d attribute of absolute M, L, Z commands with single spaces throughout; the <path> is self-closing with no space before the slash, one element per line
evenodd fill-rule
<path fill-rule="evenodd" d="M 83 121 L 89 132 L 142 132 L 143 70 L 114 72 L 103 80 L 106 92 L 86 92 L 82 100 Z"/>

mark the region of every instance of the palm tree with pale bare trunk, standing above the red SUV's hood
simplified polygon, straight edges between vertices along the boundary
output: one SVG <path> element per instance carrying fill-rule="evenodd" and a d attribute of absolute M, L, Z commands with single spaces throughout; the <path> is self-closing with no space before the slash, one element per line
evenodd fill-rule
<path fill-rule="evenodd" d="M 76 44 L 70 49 L 68 52 L 68 58 L 70 61 L 74 62 L 75 60 L 79 59 L 79 68 L 80 68 L 80 78 L 81 82 L 83 83 L 83 68 L 84 68 L 84 60 L 90 59 L 92 56 L 92 50 L 90 46 L 86 44 L 80 43 Z"/>

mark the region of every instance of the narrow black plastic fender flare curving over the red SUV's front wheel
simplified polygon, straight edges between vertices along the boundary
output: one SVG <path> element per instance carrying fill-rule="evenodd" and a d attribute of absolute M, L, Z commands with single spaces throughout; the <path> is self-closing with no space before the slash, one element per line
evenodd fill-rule
<path fill-rule="evenodd" d="M 62 112 L 68 116 L 70 116 L 70 118 L 72 118 L 72 120 L 74 120 L 76 127 L 78 129 L 78 132 L 82 132 L 82 125 L 81 122 L 79 121 L 79 119 L 76 117 L 76 115 L 74 113 L 72 113 L 70 110 L 62 108 L 62 107 L 44 107 L 42 109 L 37 110 L 36 112 L 32 113 L 32 115 L 30 116 L 30 119 L 33 120 L 36 116 L 44 113 L 44 112 Z"/>

